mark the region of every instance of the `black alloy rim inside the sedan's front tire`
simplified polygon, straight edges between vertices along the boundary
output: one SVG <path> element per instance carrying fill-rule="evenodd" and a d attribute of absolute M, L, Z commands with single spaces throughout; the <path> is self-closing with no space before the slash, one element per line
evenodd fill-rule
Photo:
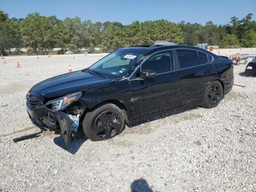
<path fill-rule="evenodd" d="M 120 132 L 121 126 L 121 117 L 118 112 L 106 110 L 96 117 L 92 130 L 100 140 L 106 140 L 116 136 Z"/>

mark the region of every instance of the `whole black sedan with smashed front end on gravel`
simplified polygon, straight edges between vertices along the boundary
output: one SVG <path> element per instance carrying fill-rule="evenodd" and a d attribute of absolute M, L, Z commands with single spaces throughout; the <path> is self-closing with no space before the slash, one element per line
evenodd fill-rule
<path fill-rule="evenodd" d="M 190 106 L 216 107 L 233 86 L 233 62 L 185 45 L 122 48 L 89 68 L 52 77 L 27 94 L 30 119 L 60 130 L 54 142 L 69 148 L 70 132 L 90 140 L 113 138 L 125 123 Z"/>

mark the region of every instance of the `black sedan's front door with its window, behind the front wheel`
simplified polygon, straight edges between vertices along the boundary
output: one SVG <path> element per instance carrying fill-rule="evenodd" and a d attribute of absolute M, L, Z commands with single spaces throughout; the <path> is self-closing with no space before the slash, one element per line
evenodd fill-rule
<path fill-rule="evenodd" d="M 152 70 L 156 76 L 140 79 L 140 72 Z M 172 50 L 152 55 L 130 79 L 134 118 L 178 106 L 180 74 L 174 68 Z"/>

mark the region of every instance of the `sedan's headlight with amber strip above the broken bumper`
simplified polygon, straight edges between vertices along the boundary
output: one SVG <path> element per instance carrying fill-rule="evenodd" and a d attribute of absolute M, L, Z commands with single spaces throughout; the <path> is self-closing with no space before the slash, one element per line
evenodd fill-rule
<path fill-rule="evenodd" d="M 72 102 L 75 102 L 76 100 L 78 100 L 81 96 L 82 96 L 82 92 L 77 92 L 77 93 L 66 95 L 54 100 L 50 100 L 45 105 L 47 106 L 52 104 L 51 106 L 52 110 L 58 111 L 66 108 Z"/>

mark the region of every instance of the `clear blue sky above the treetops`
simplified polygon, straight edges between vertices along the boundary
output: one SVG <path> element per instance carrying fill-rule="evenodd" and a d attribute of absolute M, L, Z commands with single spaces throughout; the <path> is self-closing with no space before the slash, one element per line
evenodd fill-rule
<path fill-rule="evenodd" d="M 39 12 L 44 16 L 80 17 L 92 22 L 117 21 L 130 24 L 134 20 L 165 19 L 172 22 L 227 24 L 232 16 L 254 14 L 256 0 L 0 0 L 0 10 L 16 18 Z"/>

